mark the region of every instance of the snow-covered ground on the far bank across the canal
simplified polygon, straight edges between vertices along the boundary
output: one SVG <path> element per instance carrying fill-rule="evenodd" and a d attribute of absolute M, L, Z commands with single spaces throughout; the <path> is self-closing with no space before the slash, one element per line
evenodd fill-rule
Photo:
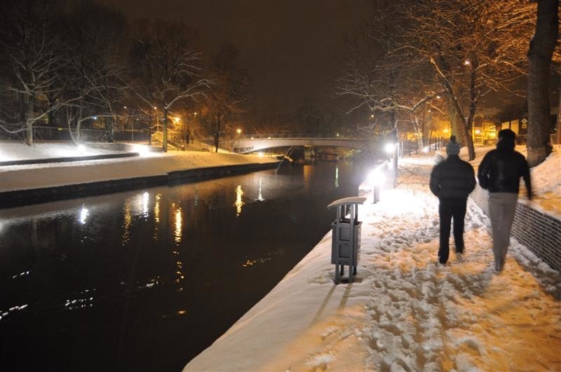
<path fill-rule="evenodd" d="M 136 145 L 133 158 L 81 160 L 69 163 L 46 163 L 32 165 L 4 165 L 0 167 L 0 192 L 30 188 L 54 187 L 71 184 L 86 184 L 111 179 L 151 177 L 177 170 L 191 170 L 220 165 L 243 165 L 250 163 L 277 162 L 274 157 L 239 155 L 225 151 L 144 151 L 145 146 Z M 35 144 L 26 146 L 22 142 L 0 140 L 0 161 L 18 159 L 58 158 L 88 156 L 123 151 L 94 149 L 73 144 Z"/>

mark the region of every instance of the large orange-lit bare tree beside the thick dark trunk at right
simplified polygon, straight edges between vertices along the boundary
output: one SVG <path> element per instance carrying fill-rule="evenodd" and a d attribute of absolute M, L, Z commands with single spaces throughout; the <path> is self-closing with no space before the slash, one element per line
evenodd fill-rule
<path fill-rule="evenodd" d="M 522 0 L 418 1 L 407 8 L 412 20 L 407 48 L 431 63 L 459 117 L 458 135 L 470 160 L 481 97 L 511 90 L 515 78 L 525 74 L 531 8 Z"/>

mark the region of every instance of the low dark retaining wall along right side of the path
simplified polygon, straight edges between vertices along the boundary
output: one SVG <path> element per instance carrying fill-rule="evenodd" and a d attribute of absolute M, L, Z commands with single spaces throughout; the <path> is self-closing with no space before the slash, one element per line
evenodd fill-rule
<path fill-rule="evenodd" d="M 471 198 L 487 216 L 489 193 L 479 185 Z M 561 271 L 561 221 L 543 214 L 520 202 L 516 205 L 511 235 L 524 244 L 540 259 L 557 271 Z"/>

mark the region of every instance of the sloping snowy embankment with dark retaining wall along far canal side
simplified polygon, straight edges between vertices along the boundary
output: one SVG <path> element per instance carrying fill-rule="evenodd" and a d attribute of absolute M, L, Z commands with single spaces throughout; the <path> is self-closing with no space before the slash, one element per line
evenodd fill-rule
<path fill-rule="evenodd" d="M 1 167 L 0 208 L 182 184 L 278 167 L 276 158 L 180 153 Z"/>

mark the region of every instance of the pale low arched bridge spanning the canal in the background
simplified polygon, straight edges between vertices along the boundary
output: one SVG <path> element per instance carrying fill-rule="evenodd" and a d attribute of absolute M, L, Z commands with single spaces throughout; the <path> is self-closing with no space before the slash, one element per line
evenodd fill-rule
<path fill-rule="evenodd" d="M 212 139 L 207 140 L 212 143 Z M 364 149 L 370 140 L 351 137 L 326 137 L 325 135 L 240 135 L 220 139 L 219 147 L 236 153 L 251 153 L 273 147 L 290 146 L 338 146 L 349 149 Z"/>

